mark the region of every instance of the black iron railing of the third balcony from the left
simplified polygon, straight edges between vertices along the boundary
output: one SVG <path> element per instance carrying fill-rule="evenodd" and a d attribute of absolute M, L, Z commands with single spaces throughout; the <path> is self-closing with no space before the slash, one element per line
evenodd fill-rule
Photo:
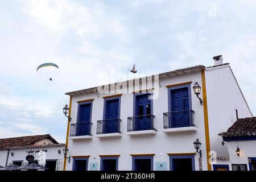
<path fill-rule="evenodd" d="M 155 130 L 154 118 L 152 114 L 128 117 L 127 131 Z"/>

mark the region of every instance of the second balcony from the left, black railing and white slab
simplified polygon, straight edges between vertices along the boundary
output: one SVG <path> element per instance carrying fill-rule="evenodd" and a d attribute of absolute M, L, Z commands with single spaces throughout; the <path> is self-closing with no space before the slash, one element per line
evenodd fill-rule
<path fill-rule="evenodd" d="M 104 137 L 121 137 L 120 123 L 121 119 L 104 119 L 97 121 L 97 136 Z"/>

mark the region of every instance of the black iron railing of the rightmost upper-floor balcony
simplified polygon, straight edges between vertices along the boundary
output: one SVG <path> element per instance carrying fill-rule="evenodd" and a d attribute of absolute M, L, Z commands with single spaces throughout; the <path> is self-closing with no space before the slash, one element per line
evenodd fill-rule
<path fill-rule="evenodd" d="M 195 126 L 193 110 L 172 111 L 163 113 L 164 129 Z"/>

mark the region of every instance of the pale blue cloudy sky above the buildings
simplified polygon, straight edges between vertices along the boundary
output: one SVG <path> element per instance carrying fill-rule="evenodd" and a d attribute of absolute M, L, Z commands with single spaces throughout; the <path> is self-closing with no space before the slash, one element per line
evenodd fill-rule
<path fill-rule="evenodd" d="M 254 0 L 0 0 L 0 138 L 49 133 L 64 142 L 65 92 L 133 63 L 160 73 L 210 66 L 220 54 L 255 115 L 255 9 Z M 36 72 L 45 62 L 60 69 Z"/>

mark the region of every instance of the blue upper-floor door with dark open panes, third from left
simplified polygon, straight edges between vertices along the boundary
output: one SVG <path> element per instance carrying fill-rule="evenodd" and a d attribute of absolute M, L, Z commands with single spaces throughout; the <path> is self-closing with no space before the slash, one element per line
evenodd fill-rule
<path fill-rule="evenodd" d="M 151 101 L 148 100 L 148 94 L 137 96 L 136 115 L 136 130 L 150 130 L 152 129 L 151 123 Z"/>

